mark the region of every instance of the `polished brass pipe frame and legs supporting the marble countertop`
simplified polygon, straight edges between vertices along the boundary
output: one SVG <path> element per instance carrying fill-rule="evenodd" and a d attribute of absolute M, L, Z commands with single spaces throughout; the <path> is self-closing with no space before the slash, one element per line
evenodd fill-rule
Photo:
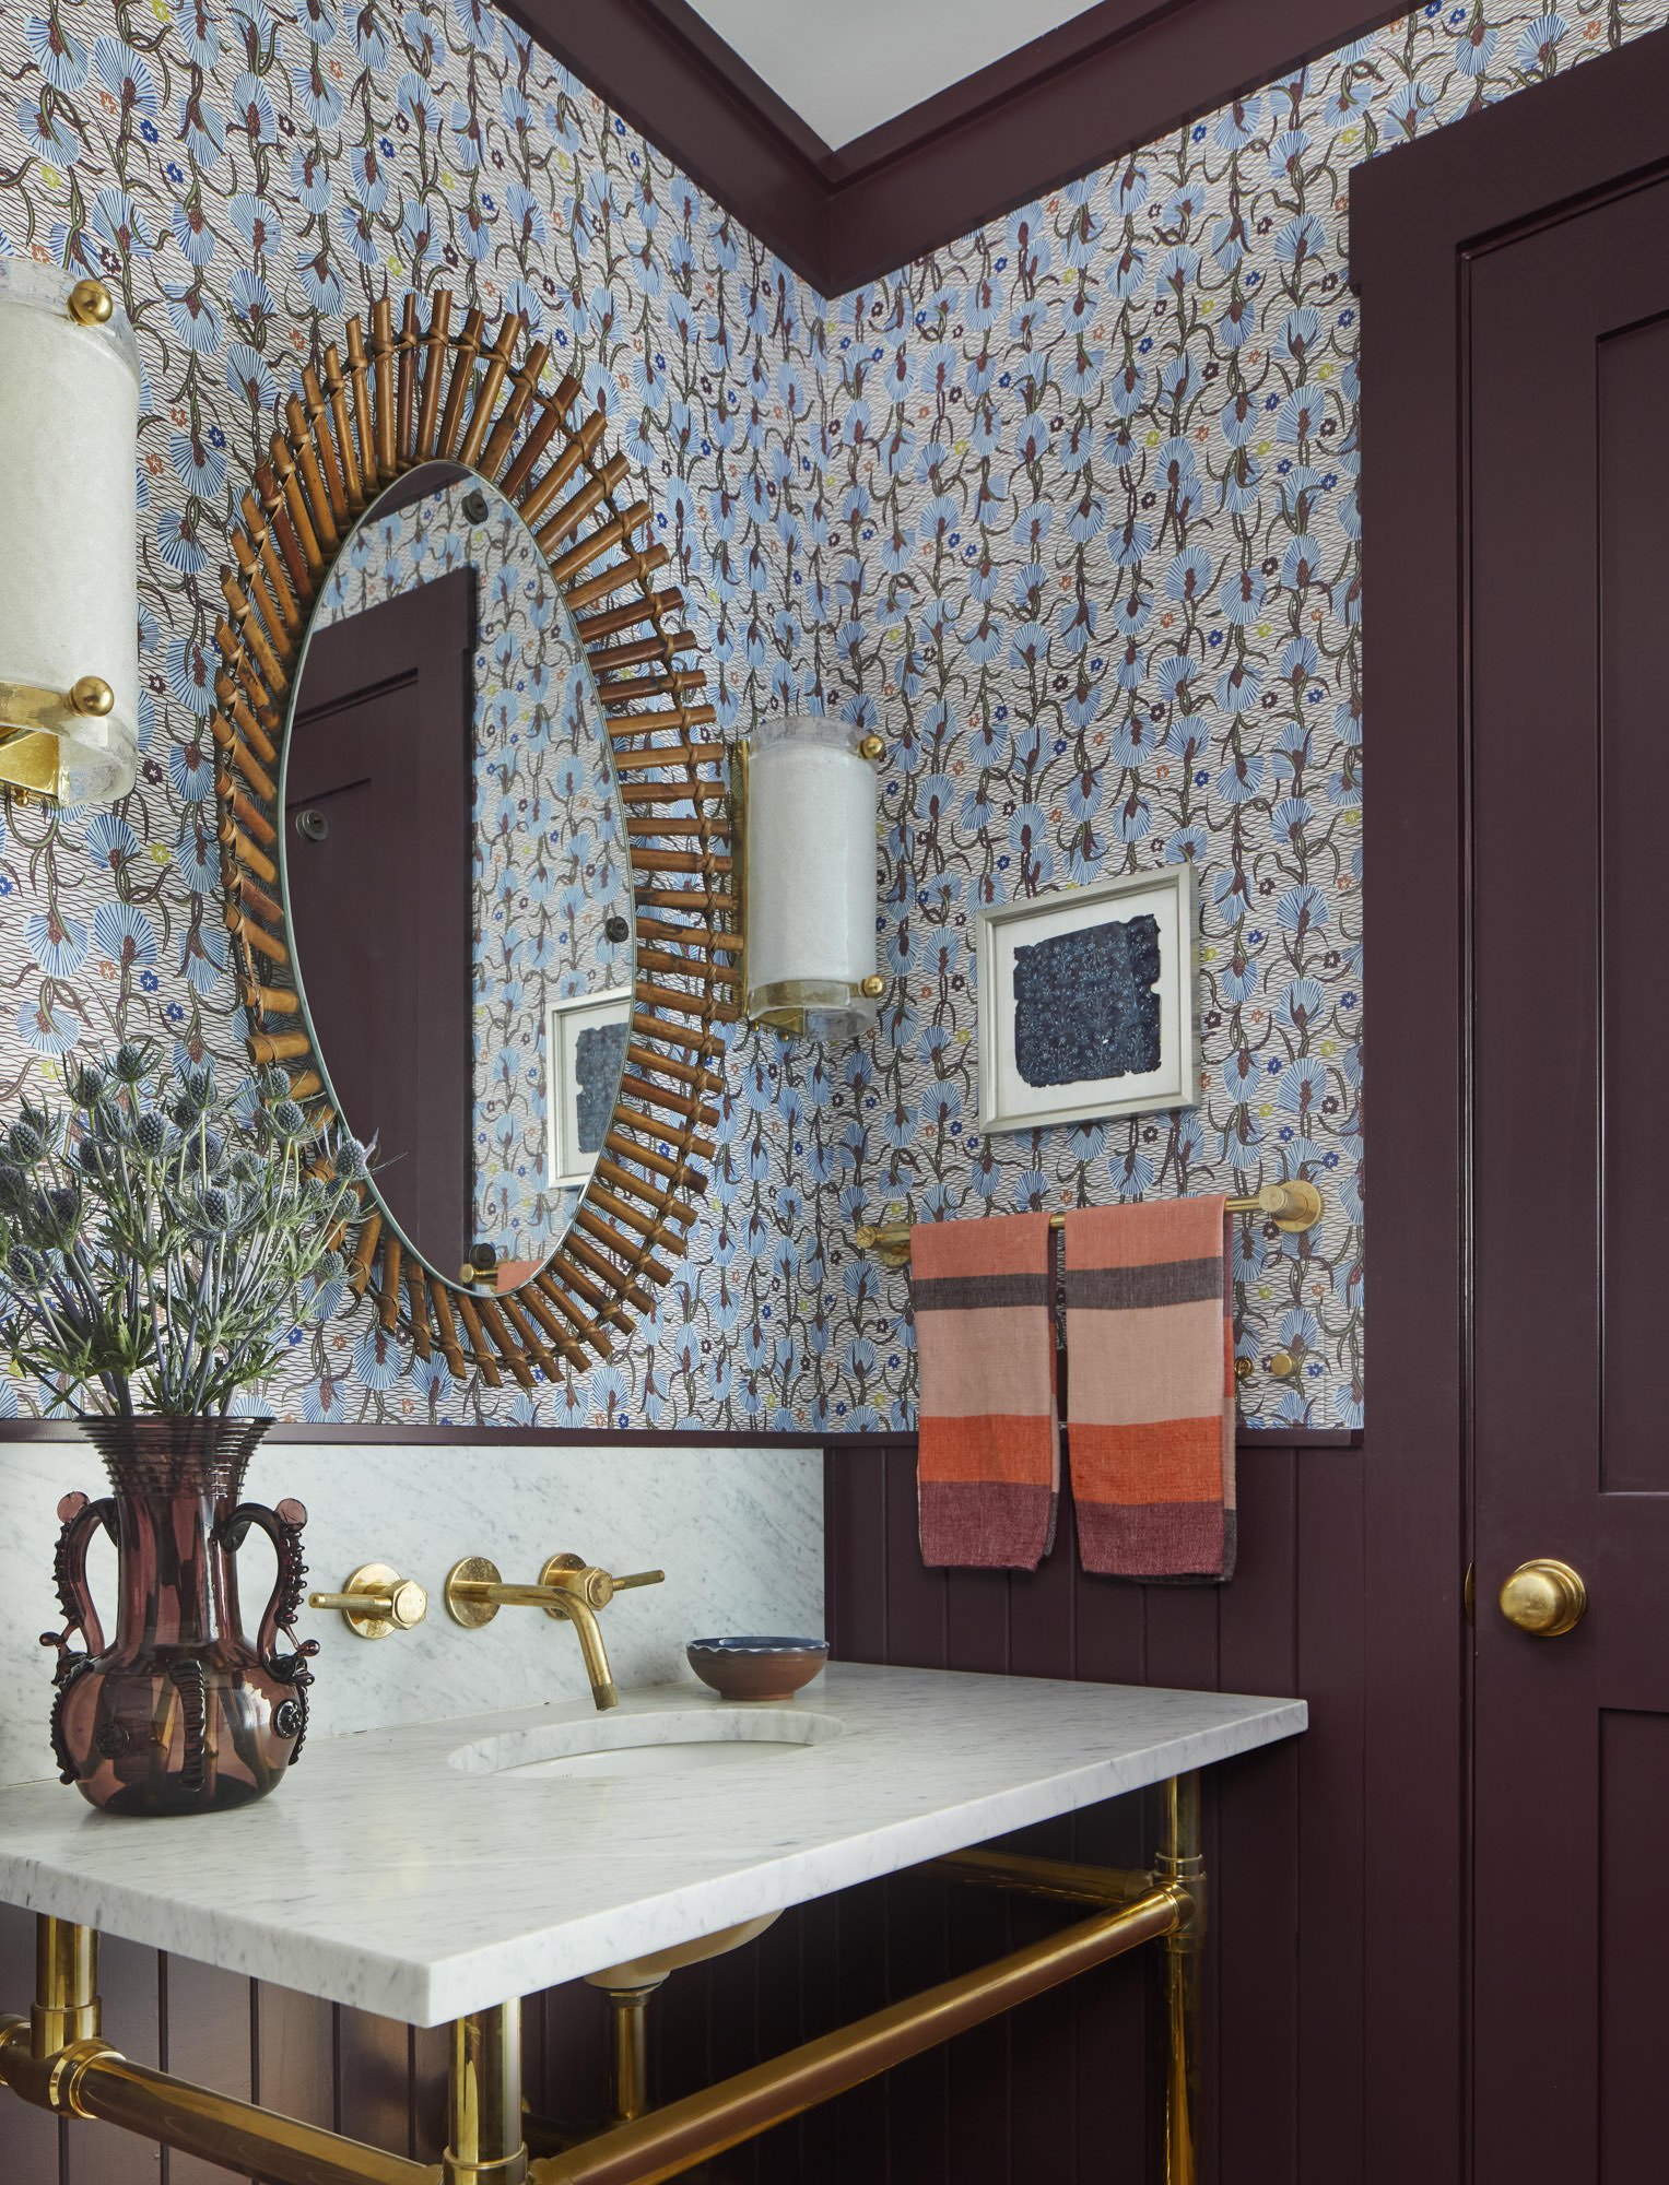
<path fill-rule="evenodd" d="M 1164 1988 L 1160 2178 L 1162 2185 L 1195 2185 L 1206 1936 L 1197 1776 L 1162 1785 L 1160 1855 L 1151 1875 L 1001 1851 L 955 1853 L 924 1870 L 1046 1897 L 1088 1916 L 548 2157 L 529 2154 L 522 2139 L 520 2001 L 452 2023 L 448 2148 L 439 2163 L 419 2163 L 131 2063 L 103 2039 L 98 1936 L 50 1916 L 35 1923 L 33 2008 L 28 2017 L 0 2017 L 0 2084 L 59 2117 L 96 2117 L 269 2185 L 658 2185 L 907 2056 L 1143 1942 L 1158 1942 Z"/>

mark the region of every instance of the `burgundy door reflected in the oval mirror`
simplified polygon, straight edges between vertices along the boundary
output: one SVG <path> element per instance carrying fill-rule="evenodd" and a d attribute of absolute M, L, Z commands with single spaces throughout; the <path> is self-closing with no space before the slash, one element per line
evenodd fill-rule
<path fill-rule="evenodd" d="M 284 773 L 295 959 L 350 1127 L 435 1265 L 470 1248 L 472 568 L 315 631 Z"/>

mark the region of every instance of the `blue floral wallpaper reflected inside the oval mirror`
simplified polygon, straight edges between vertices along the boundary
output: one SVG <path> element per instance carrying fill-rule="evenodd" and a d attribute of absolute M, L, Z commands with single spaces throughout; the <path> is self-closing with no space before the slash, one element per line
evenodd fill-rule
<path fill-rule="evenodd" d="M 551 1005 L 631 983 L 629 933 L 609 937 L 612 920 L 631 924 L 631 872 L 568 605 L 502 494 L 483 492 L 481 520 L 467 500 L 470 485 L 452 483 L 371 513 L 330 572 L 315 627 L 476 570 L 470 1235 L 500 1261 L 537 1263 L 579 1204 L 577 1186 L 551 1184 Z M 607 1086 L 605 1117 L 612 1106 Z M 376 1117 L 350 1121 L 360 1136 L 376 1130 Z"/>

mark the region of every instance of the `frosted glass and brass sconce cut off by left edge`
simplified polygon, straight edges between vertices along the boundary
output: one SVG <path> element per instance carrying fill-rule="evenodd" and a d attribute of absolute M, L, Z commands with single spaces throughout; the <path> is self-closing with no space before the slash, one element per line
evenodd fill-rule
<path fill-rule="evenodd" d="M 133 787 L 140 354 L 109 288 L 0 258 L 0 782 Z"/>

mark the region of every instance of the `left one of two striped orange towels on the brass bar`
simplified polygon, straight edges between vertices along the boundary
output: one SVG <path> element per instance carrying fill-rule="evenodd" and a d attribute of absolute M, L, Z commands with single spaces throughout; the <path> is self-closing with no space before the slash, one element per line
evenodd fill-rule
<path fill-rule="evenodd" d="M 1035 1571 L 1055 1545 L 1049 1215 L 911 1230 L 922 1562 Z"/>

